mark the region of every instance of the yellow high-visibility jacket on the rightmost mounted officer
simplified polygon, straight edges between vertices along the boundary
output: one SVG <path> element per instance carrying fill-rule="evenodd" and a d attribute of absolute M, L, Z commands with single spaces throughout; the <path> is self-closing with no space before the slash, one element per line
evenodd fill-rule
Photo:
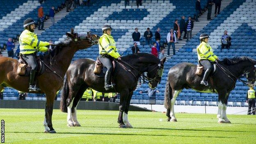
<path fill-rule="evenodd" d="M 208 59 L 212 62 L 218 58 L 216 55 L 214 55 L 212 47 L 204 41 L 197 46 L 197 57 L 198 60 Z"/>

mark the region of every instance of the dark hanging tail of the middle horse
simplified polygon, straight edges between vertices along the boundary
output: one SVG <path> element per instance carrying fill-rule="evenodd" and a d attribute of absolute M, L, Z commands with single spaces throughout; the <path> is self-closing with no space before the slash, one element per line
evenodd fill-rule
<path fill-rule="evenodd" d="M 60 95 L 61 99 L 60 99 L 60 105 L 59 105 L 59 109 L 62 112 L 68 112 L 68 107 L 67 107 L 67 98 L 69 97 L 69 84 L 68 84 L 68 80 L 66 78 L 66 80 L 64 81 L 64 85 L 63 85 L 63 89 L 62 89 L 62 93 Z"/>

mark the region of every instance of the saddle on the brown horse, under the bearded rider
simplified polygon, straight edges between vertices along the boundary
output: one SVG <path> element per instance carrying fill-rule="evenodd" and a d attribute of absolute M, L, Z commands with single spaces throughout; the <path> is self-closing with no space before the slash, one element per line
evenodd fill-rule
<path fill-rule="evenodd" d="M 41 62 L 40 57 L 36 56 L 37 59 L 37 76 L 42 75 L 45 71 L 45 66 Z M 17 73 L 21 76 L 29 76 L 30 75 L 31 66 L 27 64 L 27 62 L 23 59 L 22 55 L 20 55 L 20 59 L 18 60 L 18 69 Z"/>

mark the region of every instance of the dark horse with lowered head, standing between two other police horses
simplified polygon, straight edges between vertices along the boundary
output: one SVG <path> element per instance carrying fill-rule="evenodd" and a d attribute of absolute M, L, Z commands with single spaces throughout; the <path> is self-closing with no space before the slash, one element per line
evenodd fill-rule
<path fill-rule="evenodd" d="M 138 53 L 122 57 L 115 70 L 115 89 L 109 91 L 106 91 L 104 88 L 104 78 L 98 78 L 94 74 L 94 60 L 78 59 L 73 62 L 66 72 L 66 80 L 60 102 L 62 112 L 68 112 L 68 126 L 80 126 L 76 118 L 76 106 L 84 91 L 90 87 L 104 93 L 119 92 L 119 127 L 132 128 L 128 121 L 128 110 L 133 91 L 137 87 L 138 78 L 142 73 L 147 72 L 149 86 L 155 88 L 161 81 L 165 59 L 160 60 L 148 53 Z"/>

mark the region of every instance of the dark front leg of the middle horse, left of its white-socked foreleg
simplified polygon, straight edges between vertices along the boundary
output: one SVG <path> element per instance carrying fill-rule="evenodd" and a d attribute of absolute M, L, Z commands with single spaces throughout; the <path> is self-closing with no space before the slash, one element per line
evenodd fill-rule
<path fill-rule="evenodd" d="M 126 107 L 126 100 L 128 99 L 128 90 L 123 90 L 120 92 L 120 103 L 119 103 L 119 116 L 117 122 L 119 123 L 119 128 L 127 128 L 126 124 L 123 122 L 123 112 Z"/>

